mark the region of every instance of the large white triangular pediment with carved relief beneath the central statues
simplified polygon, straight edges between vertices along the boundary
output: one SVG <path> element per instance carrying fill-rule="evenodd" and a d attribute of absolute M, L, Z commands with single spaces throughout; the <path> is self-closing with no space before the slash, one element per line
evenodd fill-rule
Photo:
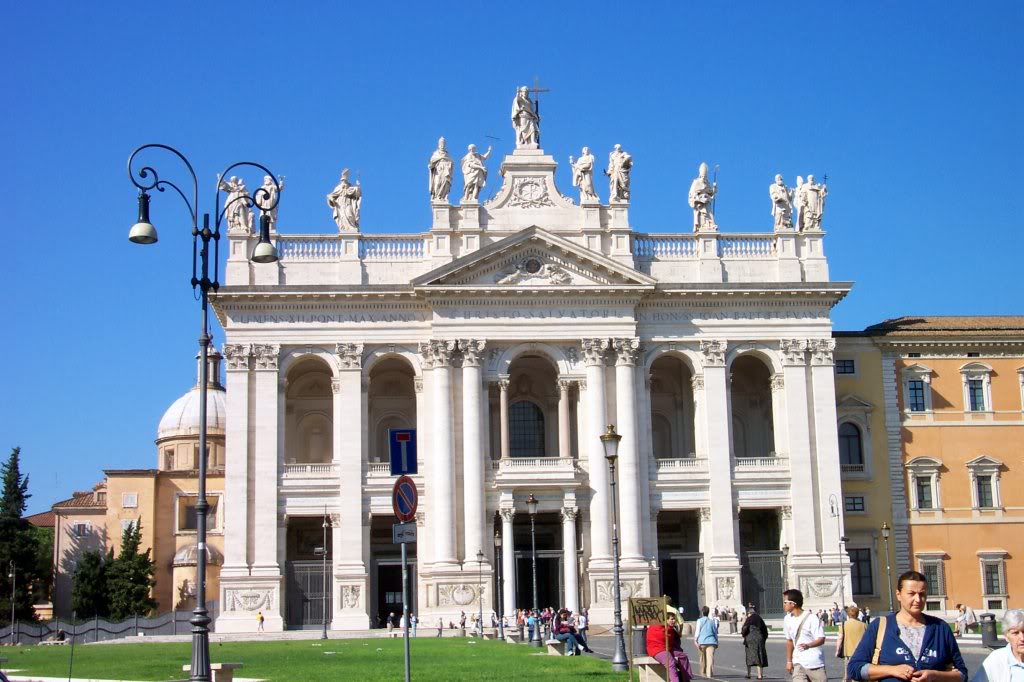
<path fill-rule="evenodd" d="M 413 281 L 415 288 L 653 288 L 655 281 L 575 242 L 532 226 Z"/>

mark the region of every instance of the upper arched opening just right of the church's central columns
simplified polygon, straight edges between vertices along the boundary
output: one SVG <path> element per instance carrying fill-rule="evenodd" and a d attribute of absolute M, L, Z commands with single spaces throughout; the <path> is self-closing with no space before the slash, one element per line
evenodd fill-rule
<path fill-rule="evenodd" d="M 693 373 L 675 355 L 650 366 L 651 449 L 655 459 L 694 457 Z"/>

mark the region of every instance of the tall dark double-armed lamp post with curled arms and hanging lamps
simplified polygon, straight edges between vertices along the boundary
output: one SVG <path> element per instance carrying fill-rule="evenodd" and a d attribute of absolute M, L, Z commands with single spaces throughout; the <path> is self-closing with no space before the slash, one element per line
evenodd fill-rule
<path fill-rule="evenodd" d="M 163 180 L 152 166 L 142 166 L 137 171 L 132 167 L 135 157 L 145 150 L 163 150 L 176 156 L 184 164 L 191 176 L 193 198 L 191 201 L 185 196 L 181 188 L 170 180 Z M 260 202 L 254 201 L 248 194 L 238 194 L 230 199 L 224 209 L 220 208 L 220 178 L 225 176 L 234 168 L 249 166 L 262 170 L 276 187 L 276 196 L 271 197 L 262 187 L 256 190 L 256 197 L 262 193 L 263 206 Z M 137 172 L 137 178 L 136 178 Z M 193 654 L 189 680 L 191 682 L 209 682 L 210 680 L 210 615 L 206 610 L 206 519 L 209 514 L 210 505 L 206 499 L 206 469 L 207 469 L 207 445 L 206 445 L 206 394 L 208 373 L 208 351 L 210 348 L 210 319 L 209 319 L 209 294 L 216 292 L 220 288 L 218 282 L 219 261 L 220 261 L 220 224 L 227 215 L 228 210 L 239 207 L 252 208 L 257 206 L 261 210 L 259 243 L 253 250 L 252 260 L 257 263 L 272 263 L 278 260 L 278 250 L 270 243 L 270 212 L 278 207 L 281 198 L 281 185 L 274 180 L 274 174 L 265 166 L 243 161 L 233 163 L 217 176 L 217 185 L 214 188 L 214 222 L 213 229 L 210 228 L 210 214 L 203 214 L 203 227 L 199 227 L 199 180 L 191 164 L 180 152 L 167 144 L 143 144 L 128 157 L 128 179 L 138 188 L 138 221 L 131 226 L 128 239 L 134 244 L 156 244 L 157 228 L 150 221 L 150 194 L 151 189 L 166 191 L 168 187 L 174 189 L 188 207 L 188 214 L 191 218 L 193 236 L 193 291 L 200 291 L 200 305 L 202 310 L 202 326 L 199 336 L 199 347 L 202 360 L 200 364 L 200 392 L 199 392 L 199 501 L 196 504 L 197 531 L 196 542 L 200 548 L 200 556 L 196 568 L 196 608 L 193 616 L 188 621 L 193 626 Z M 237 205 L 237 206 L 232 206 Z M 210 278 L 210 242 L 213 242 L 213 278 Z M 202 243 L 202 245 L 200 245 Z"/>

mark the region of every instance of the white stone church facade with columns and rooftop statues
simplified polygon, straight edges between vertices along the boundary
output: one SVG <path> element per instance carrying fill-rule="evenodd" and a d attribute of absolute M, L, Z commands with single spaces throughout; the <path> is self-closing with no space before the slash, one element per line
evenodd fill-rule
<path fill-rule="evenodd" d="M 829 506 L 842 500 L 829 313 L 850 285 L 828 278 L 823 185 L 773 187 L 774 229 L 721 232 L 703 169 L 693 231 L 642 232 L 627 152 L 609 157 L 605 204 L 585 150 L 573 201 L 528 93 L 513 125 L 486 201 L 488 155 L 453 159 L 441 140 L 427 232 L 361 232 L 347 175 L 329 196 L 338 233 L 274 232 L 280 260 L 260 264 L 256 235 L 229 231 L 214 298 L 227 388 L 218 632 L 255 630 L 257 611 L 267 630 L 319 627 L 324 602 L 333 629 L 400 612 L 396 428 L 417 430 L 410 574 L 425 627 L 481 600 L 488 622 L 499 599 L 505 613 L 531 606 L 531 527 L 541 606 L 610 623 L 608 424 L 622 435 L 624 599 L 668 594 L 689 619 L 705 604 L 780 611 L 784 586 L 811 609 L 850 594 Z"/>

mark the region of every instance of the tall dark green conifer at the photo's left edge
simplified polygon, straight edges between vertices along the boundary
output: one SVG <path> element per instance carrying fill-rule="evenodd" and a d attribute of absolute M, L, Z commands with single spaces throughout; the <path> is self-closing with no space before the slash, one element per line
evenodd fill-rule
<path fill-rule="evenodd" d="M 29 477 L 22 475 L 22 449 L 14 447 L 0 466 L 3 493 L 0 495 L 0 623 L 10 621 L 11 567 L 14 568 L 14 617 L 35 621 L 33 590 L 39 580 L 39 543 L 32 524 L 25 518 Z"/>

